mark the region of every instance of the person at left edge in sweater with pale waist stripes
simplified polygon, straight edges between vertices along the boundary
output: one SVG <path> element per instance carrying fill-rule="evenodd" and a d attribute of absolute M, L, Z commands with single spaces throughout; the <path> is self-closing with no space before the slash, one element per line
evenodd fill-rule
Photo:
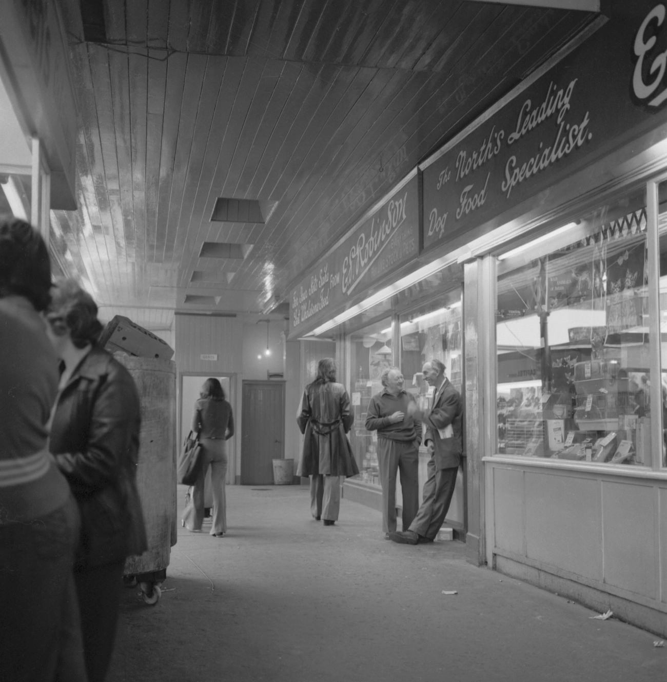
<path fill-rule="evenodd" d="M 12 682 L 85 681 L 72 574 L 79 510 L 46 446 L 58 389 L 40 316 L 50 288 L 40 234 L 1 223 L 0 680 Z"/>

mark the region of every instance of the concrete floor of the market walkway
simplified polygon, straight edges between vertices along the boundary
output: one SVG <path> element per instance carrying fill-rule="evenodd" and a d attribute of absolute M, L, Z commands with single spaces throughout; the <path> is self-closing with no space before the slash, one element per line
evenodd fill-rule
<path fill-rule="evenodd" d="M 226 537 L 179 522 L 157 606 L 124 591 L 107 682 L 667 680 L 655 635 L 474 567 L 460 542 L 388 542 L 346 500 L 325 528 L 302 486 L 227 491 Z"/>

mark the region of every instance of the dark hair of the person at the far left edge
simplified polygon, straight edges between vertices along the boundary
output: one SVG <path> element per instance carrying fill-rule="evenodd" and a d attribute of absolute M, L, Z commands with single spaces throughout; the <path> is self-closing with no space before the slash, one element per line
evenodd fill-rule
<path fill-rule="evenodd" d="M 24 296 L 42 311 L 51 301 L 51 260 L 42 235 L 25 220 L 0 222 L 0 298 Z"/>

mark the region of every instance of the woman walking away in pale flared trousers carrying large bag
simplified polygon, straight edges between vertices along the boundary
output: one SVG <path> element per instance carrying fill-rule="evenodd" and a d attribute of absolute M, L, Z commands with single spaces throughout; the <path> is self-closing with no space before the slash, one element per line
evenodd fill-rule
<path fill-rule="evenodd" d="M 227 444 L 234 434 L 231 405 L 225 400 L 225 391 L 217 379 L 206 379 L 201 387 L 199 400 L 195 401 L 193 431 L 199 434 L 203 449 L 203 466 L 193 486 L 193 495 L 183 513 L 183 525 L 188 531 L 201 531 L 204 520 L 204 479 L 211 467 L 211 490 L 213 515 L 211 535 L 223 537 L 227 533 Z"/>

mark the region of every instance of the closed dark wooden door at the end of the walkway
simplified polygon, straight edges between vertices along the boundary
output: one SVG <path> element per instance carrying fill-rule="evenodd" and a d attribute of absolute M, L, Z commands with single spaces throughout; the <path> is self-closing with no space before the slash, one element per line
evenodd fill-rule
<path fill-rule="evenodd" d="M 285 383 L 244 381 L 241 412 L 241 484 L 272 484 L 272 460 L 285 456 Z"/>

